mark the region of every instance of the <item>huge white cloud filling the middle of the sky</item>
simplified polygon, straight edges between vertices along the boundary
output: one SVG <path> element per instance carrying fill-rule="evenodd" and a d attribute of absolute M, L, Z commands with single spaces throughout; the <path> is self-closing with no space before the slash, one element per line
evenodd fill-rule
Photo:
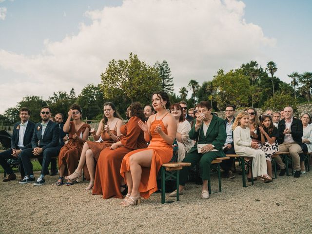
<path fill-rule="evenodd" d="M 109 60 L 133 52 L 150 65 L 167 60 L 178 89 L 190 79 L 212 79 L 219 68 L 263 59 L 262 48 L 274 46 L 260 26 L 245 22 L 244 8 L 237 0 L 124 0 L 119 7 L 87 11 L 90 25 L 81 23 L 78 35 L 62 41 L 45 40 L 38 55 L 0 49 L 0 67 L 24 75 L 31 94 L 44 88 L 48 97 L 99 83 Z M 47 85 L 51 80 L 62 85 Z"/>

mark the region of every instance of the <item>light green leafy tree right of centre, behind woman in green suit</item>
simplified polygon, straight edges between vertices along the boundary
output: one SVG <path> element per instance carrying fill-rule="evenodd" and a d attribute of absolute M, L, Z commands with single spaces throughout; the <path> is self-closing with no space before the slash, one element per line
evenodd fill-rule
<path fill-rule="evenodd" d="M 248 97 L 251 96 L 249 77 L 243 75 L 241 71 L 229 71 L 224 74 L 220 69 L 214 76 L 213 85 L 215 87 L 215 99 L 219 109 L 224 109 L 227 104 L 237 107 L 247 106 Z"/>

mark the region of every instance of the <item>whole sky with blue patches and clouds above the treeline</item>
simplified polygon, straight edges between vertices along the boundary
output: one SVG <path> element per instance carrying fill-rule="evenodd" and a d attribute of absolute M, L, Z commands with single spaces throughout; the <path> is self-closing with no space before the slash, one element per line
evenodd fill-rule
<path fill-rule="evenodd" d="M 311 0 L 0 0 L 0 114 L 27 95 L 79 94 L 130 52 L 166 60 L 176 94 L 250 60 L 290 83 L 312 70 L 311 12 Z"/>

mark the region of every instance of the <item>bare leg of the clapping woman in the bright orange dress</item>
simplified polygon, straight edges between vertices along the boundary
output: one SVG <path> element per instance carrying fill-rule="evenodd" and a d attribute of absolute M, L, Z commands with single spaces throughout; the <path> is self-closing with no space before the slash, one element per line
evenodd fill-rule
<path fill-rule="evenodd" d="M 141 181 L 142 167 L 151 167 L 153 150 L 137 152 L 130 157 L 130 172 L 132 176 L 131 196 L 137 197 L 138 187 Z"/>

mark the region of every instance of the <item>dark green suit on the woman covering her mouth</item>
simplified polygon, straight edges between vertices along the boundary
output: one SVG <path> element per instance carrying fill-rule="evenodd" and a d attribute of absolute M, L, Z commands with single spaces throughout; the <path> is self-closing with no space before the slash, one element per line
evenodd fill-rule
<path fill-rule="evenodd" d="M 194 120 L 196 123 L 196 119 Z M 188 179 L 190 170 L 199 162 L 199 175 L 203 180 L 208 180 L 210 174 L 211 162 L 217 157 L 224 157 L 222 150 L 226 140 L 226 131 L 223 124 L 224 120 L 213 115 L 213 118 L 208 127 L 206 137 L 204 135 L 203 126 L 200 126 L 199 131 L 195 131 L 195 123 L 189 132 L 189 137 L 196 140 L 195 145 L 187 153 L 183 162 L 190 162 L 191 167 L 183 167 L 180 172 L 180 185 L 185 185 Z M 198 139 L 199 137 L 199 139 Z M 199 144 L 213 144 L 218 152 L 207 152 L 201 154 L 197 152 L 197 140 Z"/>

